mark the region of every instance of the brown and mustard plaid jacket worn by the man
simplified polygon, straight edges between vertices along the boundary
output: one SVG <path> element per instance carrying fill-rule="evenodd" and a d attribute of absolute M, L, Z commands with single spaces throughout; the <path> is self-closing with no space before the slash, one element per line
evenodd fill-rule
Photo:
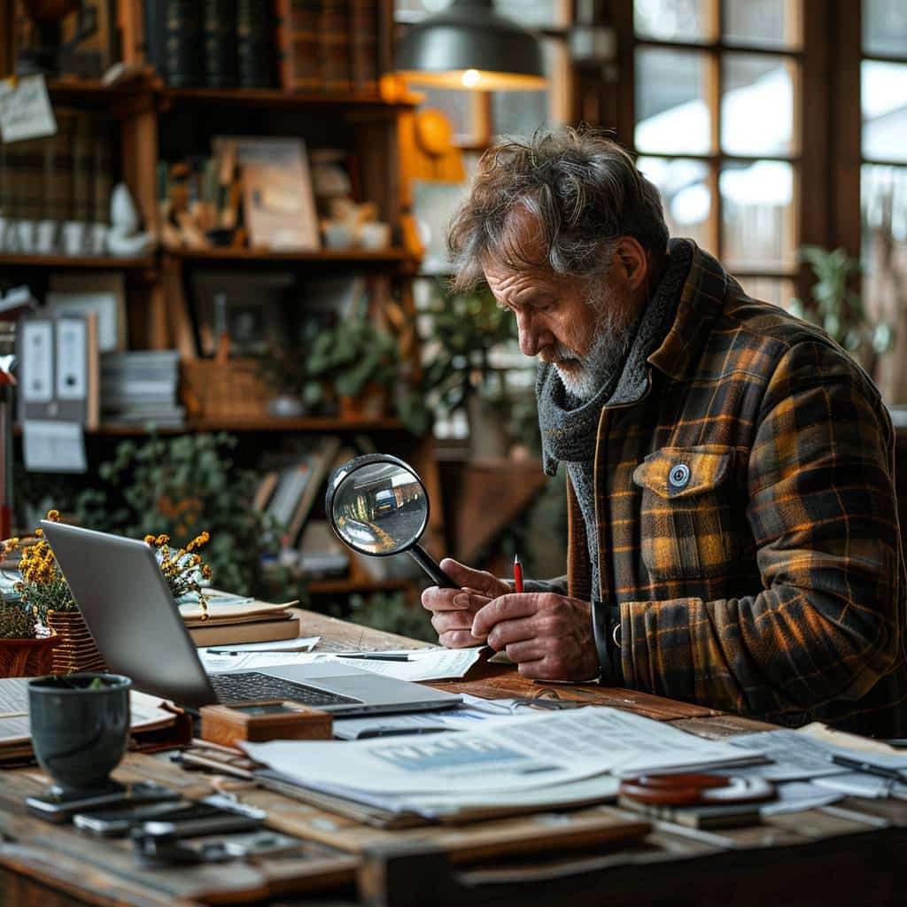
<path fill-rule="evenodd" d="M 626 686 L 907 734 L 893 433 L 873 383 L 698 249 L 648 363 L 602 410 L 595 455 Z M 570 594 L 588 599 L 570 488 L 568 512 Z"/>

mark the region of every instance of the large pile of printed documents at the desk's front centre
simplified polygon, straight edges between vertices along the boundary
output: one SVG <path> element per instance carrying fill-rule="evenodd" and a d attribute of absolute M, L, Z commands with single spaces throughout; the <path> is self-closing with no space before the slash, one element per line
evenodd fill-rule
<path fill-rule="evenodd" d="M 751 765 L 762 756 L 619 709 L 583 707 L 481 729 L 368 740 L 247 743 L 264 780 L 385 816 L 464 821 L 610 799 L 621 775 Z"/>

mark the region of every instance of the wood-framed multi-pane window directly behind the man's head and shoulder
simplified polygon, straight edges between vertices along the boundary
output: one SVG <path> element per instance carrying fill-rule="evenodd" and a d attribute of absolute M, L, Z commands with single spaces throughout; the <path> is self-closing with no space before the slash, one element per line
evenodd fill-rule
<path fill-rule="evenodd" d="M 784 305 L 799 272 L 801 0 L 635 0 L 639 170 L 672 236 Z"/>

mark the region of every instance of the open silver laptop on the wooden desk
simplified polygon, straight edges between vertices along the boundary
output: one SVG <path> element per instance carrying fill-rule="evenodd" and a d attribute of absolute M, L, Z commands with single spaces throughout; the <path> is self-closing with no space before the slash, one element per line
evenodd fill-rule
<path fill-rule="evenodd" d="M 132 678 L 143 693 L 193 708 L 288 699 L 345 716 L 426 711 L 462 701 L 342 664 L 209 675 L 151 545 L 47 520 L 41 527 L 108 668 Z"/>

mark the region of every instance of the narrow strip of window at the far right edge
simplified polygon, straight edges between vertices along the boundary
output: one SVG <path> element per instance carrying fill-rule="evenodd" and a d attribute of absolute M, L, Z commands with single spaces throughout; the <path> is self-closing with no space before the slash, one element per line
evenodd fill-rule
<path fill-rule="evenodd" d="M 863 0 L 862 20 L 863 299 L 871 317 L 895 328 L 886 390 L 900 400 L 907 390 L 900 377 L 907 344 L 907 5 Z"/>

